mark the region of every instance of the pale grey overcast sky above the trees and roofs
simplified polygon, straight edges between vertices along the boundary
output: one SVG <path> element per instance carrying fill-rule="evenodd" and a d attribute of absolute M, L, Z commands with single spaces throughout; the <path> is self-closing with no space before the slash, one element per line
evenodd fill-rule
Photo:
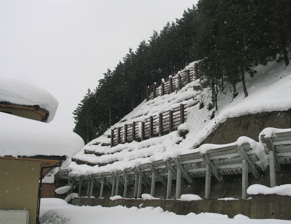
<path fill-rule="evenodd" d="M 51 122 L 72 130 L 72 112 L 139 43 L 197 0 L 0 0 L 0 75 L 38 85 L 59 101 Z"/>

